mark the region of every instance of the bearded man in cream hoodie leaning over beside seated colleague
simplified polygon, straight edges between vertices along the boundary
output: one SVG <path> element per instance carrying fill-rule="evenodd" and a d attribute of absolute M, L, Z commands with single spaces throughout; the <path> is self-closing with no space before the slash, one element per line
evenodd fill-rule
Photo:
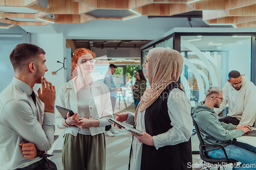
<path fill-rule="evenodd" d="M 220 122 L 252 126 L 256 118 L 256 87 L 246 75 L 235 70 L 229 72 L 228 78 L 222 88 L 223 103 L 214 110 L 219 114 L 228 104 L 228 114 Z"/>

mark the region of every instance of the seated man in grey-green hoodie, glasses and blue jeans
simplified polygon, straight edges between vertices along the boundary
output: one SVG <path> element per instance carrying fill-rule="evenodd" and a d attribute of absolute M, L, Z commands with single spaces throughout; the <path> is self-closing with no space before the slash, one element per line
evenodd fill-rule
<path fill-rule="evenodd" d="M 214 108 L 219 108 L 223 101 L 222 89 L 212 86 L 205 90 L 206 100 L 195 107 L 195 121 L 205 144 L 220 144 L 229 159 L 234 159 L 242 164 L 243 169 L 255 169 L 256 148 L 239 141 L 231 140 L 242 136 L 251 130 L 247 125 L 235 126 L 219 122 Z M 225 100 L 225 99 L 224 99 Z M 219 147 L 206 147 L 205 154 L 212 159 L 225 159 L 226 156 Z M 251 166 L 250 168 L 247 168 Z"/>

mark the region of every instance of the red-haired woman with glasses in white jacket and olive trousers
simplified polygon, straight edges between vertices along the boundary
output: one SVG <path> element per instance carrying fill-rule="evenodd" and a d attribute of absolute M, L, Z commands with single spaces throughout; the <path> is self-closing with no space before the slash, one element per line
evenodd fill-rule
<path fill-rule="evenodd" d="M 77 76 L 61 86 L 56 105 L 71 109 L 73 116 L 64 119 L 55 110 L 55 122 L 65 129 L 62 147 L 63 169 L 105 169 L 105 126 L 112 123 L 112 107 L 108 86 L 91 77 L 95 54 L 79 48 L 72 58 L 72 73 Z M 74 74 L 73 74 L 74 75 Z"/>

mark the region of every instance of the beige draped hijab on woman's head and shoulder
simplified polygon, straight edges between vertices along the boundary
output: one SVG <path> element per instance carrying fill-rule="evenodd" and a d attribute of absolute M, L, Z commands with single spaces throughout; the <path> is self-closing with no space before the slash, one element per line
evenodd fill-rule
<path fill-rule="evenodd" d="M 135 124 L 138 111 L 143 112 L 152 105 L 163 92 L 166 86 L 177 82 L 183 67 L 183 57 L 176 50 L 156 47 L 148 52 L 148 81 L 150 86 L 141 96 L 140 103 L 135 111 Z M 161 106 L 160 106 L 161 107 Z"/>

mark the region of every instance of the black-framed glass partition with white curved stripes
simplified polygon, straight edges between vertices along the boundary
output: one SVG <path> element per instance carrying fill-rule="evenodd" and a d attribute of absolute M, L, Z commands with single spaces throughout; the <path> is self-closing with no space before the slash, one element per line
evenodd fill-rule
<path fill-rule="evenodd" d="M 254 33 L 173 33 L 142 50 L 142 58 L 153 47 L 179 51 L 184 60 L 181 86 L 194 107 L 205 100 L 206 88 L 222 88 L 231 70 L 238 70 L 249 80 L 255 79 L 251 66 L 255 63 L 254 41 Z"/>

